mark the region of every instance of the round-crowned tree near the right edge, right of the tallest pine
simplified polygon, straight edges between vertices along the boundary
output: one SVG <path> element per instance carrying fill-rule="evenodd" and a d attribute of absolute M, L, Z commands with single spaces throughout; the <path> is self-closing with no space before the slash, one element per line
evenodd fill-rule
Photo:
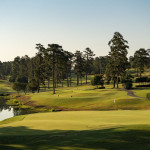
<path fill-rule="evenodd" d="M 148 63 L 149 53 L 145 49 L 141 48 L 134 53 L 134 62 L 137 68 L 137 76 L 138 71 L 140 72 L 140 78 L 142 73 L 144 72 L 144 67 Z"/>

